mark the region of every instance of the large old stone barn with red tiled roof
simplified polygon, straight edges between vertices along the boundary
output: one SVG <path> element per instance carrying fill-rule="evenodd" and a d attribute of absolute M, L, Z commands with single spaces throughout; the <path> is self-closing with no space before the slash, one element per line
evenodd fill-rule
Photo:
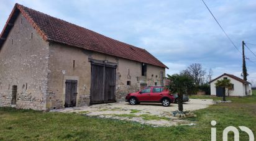
<path fill-rule="evenodd" d="M 163 85 L 147 50 L 16 4 L 1 32 L 0 106 L 48 111 Z"/>

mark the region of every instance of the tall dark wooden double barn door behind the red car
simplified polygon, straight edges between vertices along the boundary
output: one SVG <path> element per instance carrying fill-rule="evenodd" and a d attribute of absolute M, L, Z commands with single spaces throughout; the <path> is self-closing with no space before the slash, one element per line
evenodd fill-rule
<path fill-rule="evenodd" d="M 116 66 L 91 61 L 90 103 L 116 102 Z"/>

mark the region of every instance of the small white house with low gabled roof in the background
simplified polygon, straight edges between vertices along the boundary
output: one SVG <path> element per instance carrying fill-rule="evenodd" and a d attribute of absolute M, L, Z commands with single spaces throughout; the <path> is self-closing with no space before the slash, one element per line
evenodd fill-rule
<path fill-rule="evenodd" d="M 217 88 L 215 86 L 215 83 L 217 80 L 223 80 L 223 79 L 229 79 L 232 83 L 232 90 L 229 91 L 229 96 L 248 96 L 252 95 L 252 87 L 250 86 L 250 83 L 248 81 L 242 80 L 241 78 L 229 75 L 227 73 L 224 73 L 223 75 L 215 78 L 214 80 L 210 81 L 211 86 L 211 95 L 213 96 L 220 96 L 222 97 L 223 89 Z M 246 90 L 245 90 L 246 89 Z M 245 93 L 246 91 L 246 93 Z M 226 96 L 227 96 L 227 89 L 226 89 Z"/>

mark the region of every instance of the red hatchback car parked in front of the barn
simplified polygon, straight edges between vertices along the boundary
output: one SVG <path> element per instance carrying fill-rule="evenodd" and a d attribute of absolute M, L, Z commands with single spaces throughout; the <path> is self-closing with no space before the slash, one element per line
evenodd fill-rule
<path fill-rule="evenodd" d="M 131 105 L 139 104 L 140 102 L 161 102 L 167 107 L 174 102 L 175 98 L 169 94 L 168 89 L 161 86 L 150 86 L 136 93 L 129 93 L 126 96 L 126 102 Z"/>

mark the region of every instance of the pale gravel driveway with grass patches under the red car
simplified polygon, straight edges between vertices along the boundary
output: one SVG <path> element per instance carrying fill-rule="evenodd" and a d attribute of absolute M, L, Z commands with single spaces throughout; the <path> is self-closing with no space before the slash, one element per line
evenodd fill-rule
<path fill-rule="evenodd" d="M 204 109 L 214 104 L 212 99 L 190 99 L 183 104 L 184 111 Z M 114 102 L 107 104 L 94 104 L 92 106 L 71 107 L 53 110 L 52 112 L 76 112 L 85 116 L 119 119 L 140 122 L 155 127 L 171 125 L 193 125 L 191 121 L 170 116 L 170 112 L 178 110 L 178 104 L 163 107 L 160 103 L 144 103 L 130 105 L 128 102 Z"/>

